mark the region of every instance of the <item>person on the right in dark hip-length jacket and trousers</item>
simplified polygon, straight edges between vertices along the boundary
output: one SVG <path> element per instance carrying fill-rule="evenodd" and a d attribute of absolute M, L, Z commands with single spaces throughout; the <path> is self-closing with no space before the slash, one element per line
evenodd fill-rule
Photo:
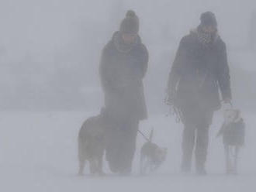
<path fill-rule="evenodd" d="M 217 33 L 212 12 L 201 15 L 201 24 L 182 38 L 168 80 L 168 105 L 184 124 L 182 171 L 191 170 L 195 146 L 195 168 L 206 174 L 209 125 L 213 112 L 220 109 L 220 93 L 231 101 L 230 72 L 226 45 Z"/>

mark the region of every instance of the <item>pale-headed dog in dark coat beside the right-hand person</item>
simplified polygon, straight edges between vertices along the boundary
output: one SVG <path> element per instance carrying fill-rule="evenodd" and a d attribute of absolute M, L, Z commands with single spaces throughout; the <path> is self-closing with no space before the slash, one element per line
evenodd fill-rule
<path fill-rule="evenodd" d="M 237 156 L 244 145 L 245 125 L 239 110 L 226 110 L 224 122 L 217 136 L 223 135 L 227 174 L 237 174 Z"/>

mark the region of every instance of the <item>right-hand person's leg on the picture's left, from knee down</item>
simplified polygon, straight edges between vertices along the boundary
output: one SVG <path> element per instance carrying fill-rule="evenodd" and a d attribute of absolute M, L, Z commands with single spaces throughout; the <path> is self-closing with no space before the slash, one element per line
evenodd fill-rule
<path fill-rule="evenodd" d="M 195 145 L 195 127 L 185 125 L 182 137 L 182 171 L 191 170 L 192 153 Z"/>

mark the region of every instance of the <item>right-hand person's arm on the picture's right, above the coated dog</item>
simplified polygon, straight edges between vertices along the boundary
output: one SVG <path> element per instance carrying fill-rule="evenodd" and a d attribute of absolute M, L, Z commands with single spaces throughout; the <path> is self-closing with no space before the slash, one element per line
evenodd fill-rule
<path fill-rule="evenodd" d="M 230 88 L 230 68 L 227 62 L 227 48 L 223 43 L 223 48 L 220 53 L 220 70 L 218 71 L 218 83 L 220 86 L 220 92 L 225 103 L 229 103 L 232 99 Z"/>

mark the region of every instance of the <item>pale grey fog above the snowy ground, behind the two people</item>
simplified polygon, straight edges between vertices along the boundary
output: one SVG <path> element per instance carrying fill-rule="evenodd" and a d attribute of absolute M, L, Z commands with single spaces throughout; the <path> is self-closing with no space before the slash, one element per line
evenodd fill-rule
<path fill-rule="evenodd" d="M 157 103 L 152 112 L 162 105 L 178 42 L 199 25 L 201 12 L 216 13 L 230 68 L 242 68 L 244 75 L 254 70 L 254 7 L 254 1 L 238 0 L 2 1 L 2 110 L 99 108 L 99 57 L 127 9 L 139 15 L 140 35 L 150 52 L 145 86 L 148 104 Z M 155 90 L 158 94 L 150 94 Z"/>

